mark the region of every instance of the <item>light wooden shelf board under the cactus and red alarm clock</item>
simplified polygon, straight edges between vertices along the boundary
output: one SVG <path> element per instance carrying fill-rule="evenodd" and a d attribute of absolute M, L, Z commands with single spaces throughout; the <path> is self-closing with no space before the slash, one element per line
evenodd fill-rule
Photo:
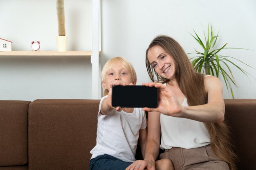
<path fill-rule="evenodd" d="M 0 56 L 91 56 L 92 51 L 0 51 Z"/>

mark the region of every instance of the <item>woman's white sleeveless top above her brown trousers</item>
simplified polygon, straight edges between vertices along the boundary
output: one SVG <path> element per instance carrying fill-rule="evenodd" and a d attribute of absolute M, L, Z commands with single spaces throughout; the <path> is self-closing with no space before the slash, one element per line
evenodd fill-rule
<path fill-rule="evenodd" d="M 189 106 L 186 98 L 183 106 Z M 199 148 L 211 144 L 211 139 L 204 123 L 186 118 L 176 118 L 160 114 L 162 149 L 180 147 Z"/>

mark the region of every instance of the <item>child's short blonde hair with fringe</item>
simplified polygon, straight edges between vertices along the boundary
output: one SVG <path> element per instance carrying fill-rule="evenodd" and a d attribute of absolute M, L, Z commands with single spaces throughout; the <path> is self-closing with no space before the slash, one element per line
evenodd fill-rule
<path fill-rule="evenodd" d="M 132 65 L 124 58 L 122 57 L 113 57 L 112 59 L 108 60 L 107 63 L 104 65 L 102 71 L 101 71 L 101 82 L 105 82 L 105 77 L 106 74 L 108 73 L 109 70 L 113 69 L 117 64 L 121 64 L 121 66 L 123 68 L 126 68 L 132 76 L 132 82 L 136 81 L 137 75 L 136 72 L 134 70 L 134 68 L 132 67 Z M 106 96 L 108 95 L 108 89 L 104 89 L 103 87 L 103 95 Z"/>

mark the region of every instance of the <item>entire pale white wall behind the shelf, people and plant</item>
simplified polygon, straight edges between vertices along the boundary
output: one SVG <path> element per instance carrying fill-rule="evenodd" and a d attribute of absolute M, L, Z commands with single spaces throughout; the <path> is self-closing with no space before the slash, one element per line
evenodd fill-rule
<path fill-rule="evenodd" d="M 13 41 L 12 50 L 57 50 L 55 0 L 0 1 L 0 37 Z M 122 56 L 134 65 L 137 84 L 149 81 L 145 51 L 159 34 L 175 38 L 188 52 L 199 49 L 190 33 L 206 31 L 211 23 L 220 30 L 219 44 L 248 48 L 227 50 L 229 56 L 256 68 L 255 0 L 101 0 L 102 63 Z M 92 49 L 92 1 L 65 0 L 67 50 Z M 237 62 L 236 62 L 237 63 Z M 239 64 L 240 65 L 240 64 Z M 256 77 L 256 70 L 243 68 Z M 89 57 L 0 56 L 0 100 L 91 98 Z M 235 98 L 256 98 L 256 80 L 232 69 L 239 88 Z M 224 98 L 231 98 L 224 88 Z"/>

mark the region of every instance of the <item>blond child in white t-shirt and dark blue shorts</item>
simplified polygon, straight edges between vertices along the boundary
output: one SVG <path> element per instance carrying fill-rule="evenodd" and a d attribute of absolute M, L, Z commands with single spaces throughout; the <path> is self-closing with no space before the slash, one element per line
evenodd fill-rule
<path fill-rule="evenodd" d="M 112 107 L 111 91 L 113 85 L 135 85 L 137 76 L 128 61 L 114 57 L 103 67 L 101 81 L 106 96 L 99 104 L 97 144 L 90 152 L 90 170 L 125 170 L 136 161 L 137 142 L 144 157 L 147 120 L 142 108 Z"/>

